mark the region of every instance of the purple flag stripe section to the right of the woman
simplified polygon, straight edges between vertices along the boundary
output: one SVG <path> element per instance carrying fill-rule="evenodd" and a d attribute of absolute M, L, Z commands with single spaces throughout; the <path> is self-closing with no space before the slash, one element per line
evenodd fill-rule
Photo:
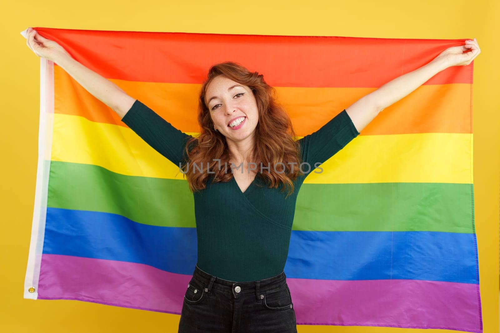
<path fill-rule="evenodd" d="M 424 280 L 286 281 L 297 324 L 482 332 L 476 284 Z"/>

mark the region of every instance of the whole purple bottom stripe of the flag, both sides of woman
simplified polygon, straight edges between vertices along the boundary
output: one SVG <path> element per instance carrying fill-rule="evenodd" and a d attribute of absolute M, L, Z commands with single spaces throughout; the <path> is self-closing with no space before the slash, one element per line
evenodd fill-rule
<path fill-rule="evenodd" d="M 190 279 L 190 275 L 168 273 L 143 264 L 43 254 L 38 299 L 89 301 L 179 315 Z M 297 325 L 482 332 L 476 284 L 423 280 L 286 281 Z"/>

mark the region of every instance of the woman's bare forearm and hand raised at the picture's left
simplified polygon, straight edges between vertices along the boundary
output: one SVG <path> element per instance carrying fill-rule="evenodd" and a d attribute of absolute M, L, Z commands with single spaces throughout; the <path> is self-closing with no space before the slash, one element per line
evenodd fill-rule
<path fill-rule="evenodd" d="M 28 28 L 26 44 L 37 56 L 57 63 L 85 90 L 116 112 L 120 119 L 133 105 L 135 98 L 128 96 L 116 84 L 74 60 L 57 42 L 40 36 L 36 30 Z"/>

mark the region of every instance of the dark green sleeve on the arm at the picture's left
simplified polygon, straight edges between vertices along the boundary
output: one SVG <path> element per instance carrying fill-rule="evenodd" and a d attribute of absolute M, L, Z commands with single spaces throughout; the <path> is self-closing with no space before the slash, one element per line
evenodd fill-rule
<path fill-rule="evenodd" d="M 173 127 L 139 100 L 135 100 L 121 121 L 170 162 L 179 165 L 183 161 L 185 144 L 192 136 Z"/>

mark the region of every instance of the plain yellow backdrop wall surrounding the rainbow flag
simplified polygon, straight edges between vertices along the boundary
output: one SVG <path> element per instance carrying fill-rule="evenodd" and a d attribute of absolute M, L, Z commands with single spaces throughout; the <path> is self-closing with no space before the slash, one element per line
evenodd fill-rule
<path fill-rule="evenodd" d="M 484 332 L 498 332 L 500 1 L 1 0 L 0 332 L 177 332 L 180 316 L 79 301 L 24 300 L 33 213 L 39 58 L 28 26 L 382 38 L 477 38 L 474 192 Z M 451 305 L 452 306 L 452 305 Z M 456 332 L 298 326 L 306 332 Z"/>

